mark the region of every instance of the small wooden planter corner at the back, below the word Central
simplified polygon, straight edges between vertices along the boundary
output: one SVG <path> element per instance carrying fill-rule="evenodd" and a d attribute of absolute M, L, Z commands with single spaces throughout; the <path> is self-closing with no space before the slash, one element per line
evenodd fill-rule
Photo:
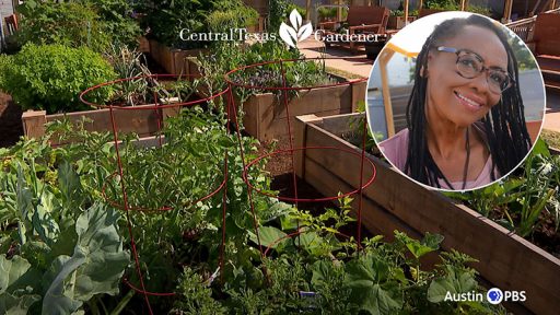
<path fill-rule="evenodd" d="M 206 49 L 182 50 L 170 48 L 158 40 L 150 39 L 152 58 L 171 74 L 191 74 L 186 62 L 188 58 L 198 57 Z"/>

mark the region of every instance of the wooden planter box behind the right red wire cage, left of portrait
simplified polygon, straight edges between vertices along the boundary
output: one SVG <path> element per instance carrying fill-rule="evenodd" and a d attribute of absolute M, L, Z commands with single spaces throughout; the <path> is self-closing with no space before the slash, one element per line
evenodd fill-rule
<path fill-rule="evenodd" d="M 364 100 L 365 89 L 366 82 L 359 82 L 300 91 L 299 97 L 289 100 L 288 104 L 292 128 L 295 116 L 315 114 L 320 117 L 355 112 L 358 102 Z M 283 102 L 283 95 L 272 93 L 250 96 L 243 104 L 245 130 L 260 141 L 287 136 L 288 116 Z"/>

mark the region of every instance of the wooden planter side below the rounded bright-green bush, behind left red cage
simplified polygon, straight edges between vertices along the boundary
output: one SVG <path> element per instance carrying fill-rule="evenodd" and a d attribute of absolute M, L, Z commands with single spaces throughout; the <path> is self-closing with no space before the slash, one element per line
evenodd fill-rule
<path fill-rule="evenodd" d="M 118 132 L 130 133 L 135 132 L 140 138 L 153 136 L 158 129 L 158 118 L 160 118 L 161 127 L 165 124 L 165 119 L 176 116 L 179 108 L 163 108 L 163 109 L 141 109 L 145 106 L 136 106 L 136 110 L 131 109 L 115 109 L 115 122 Z M 23 132 L 26 137 L 38 138 L 45 135 L 46 124 L 69 119 L 70 122 L 77 125 L 83 119 L 91 120 L 83 125 L 88 131 L 112 131 L 110 113 L 109 109 L 94 109 L 84 112 L 73 112 L 66 114 L 47 115 L 45 110 L 27 110 L 22 115 Z M 56 143 L 55 143 L 56 144 Z"/>

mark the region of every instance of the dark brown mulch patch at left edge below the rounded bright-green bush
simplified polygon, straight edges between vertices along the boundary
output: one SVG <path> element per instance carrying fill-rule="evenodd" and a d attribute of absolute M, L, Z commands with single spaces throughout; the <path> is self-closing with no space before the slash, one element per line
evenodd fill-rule
<path fill-rule="evenodd" d="M 0 148 L 8 148 L 23 136 L 22 108 L 12 97 L 0 92 Z"/>

